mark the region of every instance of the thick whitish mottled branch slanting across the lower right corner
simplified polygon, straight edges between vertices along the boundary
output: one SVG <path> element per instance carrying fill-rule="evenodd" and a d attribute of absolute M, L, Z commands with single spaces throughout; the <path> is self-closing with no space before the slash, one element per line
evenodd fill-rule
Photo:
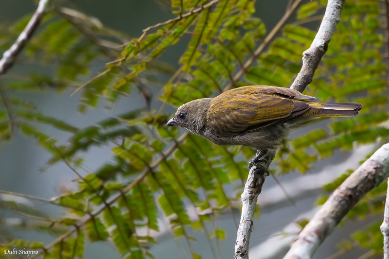
<path fill-rule="evenodd" d="M 389 176 L 389 143 L 379 148 L 328 198 L 292 243 L 283 259 L 312 258 L 347 212 Z"/>

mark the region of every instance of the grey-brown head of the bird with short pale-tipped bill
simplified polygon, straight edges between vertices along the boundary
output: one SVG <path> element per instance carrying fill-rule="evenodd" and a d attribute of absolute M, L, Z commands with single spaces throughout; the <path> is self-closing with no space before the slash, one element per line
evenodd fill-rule
<path fill-rule="evenodd" d="M 201 129 L 207 121 L 208 108 L 212 98 L 202 98 L 182 104 L 176 114 L 167 122 L 168 126 L 179 126 L 202 136 Z"/>

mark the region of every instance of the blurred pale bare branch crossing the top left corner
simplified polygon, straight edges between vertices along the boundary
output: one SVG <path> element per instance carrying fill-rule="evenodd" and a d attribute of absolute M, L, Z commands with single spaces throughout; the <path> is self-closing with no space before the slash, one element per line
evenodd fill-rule
<path fill-rule="evenodd" d="M 0 60 L 0 75 L 4 74 L 15 62 L 18 53 L 26 45 L 27 41 L 31 38 L 35 29 L 38 27 L 41 18 L 46 12 L 47 6 L 51 0 L 40 0 L 38 7 L 30 21 L 27 23 L 26 28 L 20 33 L 18 39 L 12 44 L 6 52 L 3 53 L 3 57 Z"/>

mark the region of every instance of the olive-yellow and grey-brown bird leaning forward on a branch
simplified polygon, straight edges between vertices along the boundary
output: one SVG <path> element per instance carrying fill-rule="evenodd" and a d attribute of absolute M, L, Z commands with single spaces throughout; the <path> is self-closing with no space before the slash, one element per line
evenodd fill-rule
<path fill-rule="evenodd" d="M 265 154 L 290 130 L 321 117 L 358 114 L 362 104 L 317 103 L 315 97 L 279 86 L 241 86 L 178 107 L 168 126 L 179 126 L 217 145 L 241 145 Z"/>

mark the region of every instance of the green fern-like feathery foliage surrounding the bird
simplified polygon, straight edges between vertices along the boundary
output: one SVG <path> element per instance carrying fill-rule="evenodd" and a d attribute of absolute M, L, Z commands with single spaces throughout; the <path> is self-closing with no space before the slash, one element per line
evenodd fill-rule
<path fill-rule="evenodd" d="M 296 22 L 291 19 L 266 41 L 272 28 L 255 16 L 250 0 L 172 0 L 175 18 L 131 40 L 93 17 L 72 16 L 56 6 L 45 15 L 21 55 L 34 64 L 32 71 L 23 74 L 22 80 L 4 80 L 0 85 L 0 144 L 19 131 L 52 155 L 48 166 L 66 162 L 75 172 L 83 164 L 83 153 L 92 147 L 108 146 L 111 157 L 101 161 L 94 172 L 77 176 L 77 190 L 52 202 L 66 207 L 72 216 L 41 228 L 53 230 L 53 243 L 21 241 L 18 245 L 40 248 L 44 258 L 82 258 L 86 236 L 90 242 L 112 240 L 124 258 L 151 258 L 148 249 L 156 242 L 151 231 L 159 230 L 160 214 L 173 235 L 185 240 L 192 258 L 201 258 L 192 250 L 193 231 L 204 231 L 210 243 L 224 240 L 227 233 L 218 226 L 217 217 L 234 209 L 232 202 L 248 174 L 246 160 L 254 151 L 215 146 L 204 138 L 179 135 L 177 129 L 167 128 L 171 115 L 164 109 L 149 110 L 153 100 L 149 86 L 160 87 L 159 100 L 173 106 L 236 86 L 289 86 L 300 70 L 302 52 L 316 34 L 304 25 L 323 13 L 323 4 L 301 5 L 294 10 Z M 360 102 L 364 105 L 360 116 L 321 121 L 323 127 L 285 141 L 273 162 L 276 172 L 306 173 L 337 149 L 388 138 L 389 129 L 383 123 L 388 121 L 387 67 L 379 51 L 385 38 L 379 6 L 378 0 L 346 1 L 337 32 L 306 90 L 322 102 Z M 0 28 L 4 35 L 1 51 L 10 47 L 29 17 Z M 118 49 L 122 42 L 127 43 Z M 160 60 L 178 44 L 186 48 L 177 60 L 180 67 L 172 71 Z M 91 69 L 102 64 L 106 66 L 100 72 Z M 169 80 L 166 75 L 171 76 Z M 23 95 L 36 89 L 65 92 L 74 86 L 79 86 L 81 94 L 80 112 L 102 104 L 113 108 L 127 97 L 144 99 L 146 105 L 78 128 L 38 111 Z M 49 136 L 46 126 L 66 132 L 69 141 Z M 334 190 L 348 174 L 325 190 Z M 229 193 L 227 186 L 238 191 Z M 381 211 L 384 189 L 382 185 L 373 190 L 348 217 L 360 219 Z M 0 208 L 47 217 L 15 201 L 0 199 Z M 357 232 L 353 239 L 379 253 L 377 231 Z M 58 238 L 58 233 L 63 236 Z M 7 239 L 9 246 L 16 245 L 11 240 Z"/>

